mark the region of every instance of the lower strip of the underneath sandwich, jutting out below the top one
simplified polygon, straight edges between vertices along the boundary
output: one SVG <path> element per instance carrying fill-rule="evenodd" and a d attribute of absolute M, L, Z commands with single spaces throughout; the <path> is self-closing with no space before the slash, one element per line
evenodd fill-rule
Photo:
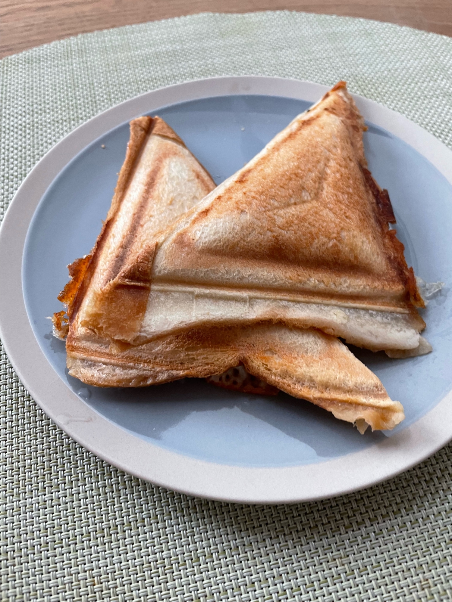
<path fill-rule="evenodd" d="M 243 364 L 249 374 L 307 399 L 360 430 L 392 429 L 403 407 L 335 337 L 283 324 L 185 330 L 139 346 L 102 341 L 81 328 L 66 341 L 69 374 L 96 386 L 147 386 L 208 377 Z"/>

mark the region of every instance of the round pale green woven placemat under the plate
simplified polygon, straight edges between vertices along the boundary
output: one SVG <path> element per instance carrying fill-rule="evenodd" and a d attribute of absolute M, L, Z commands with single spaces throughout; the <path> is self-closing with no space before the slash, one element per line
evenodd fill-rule
<path fill-rule="evenodd" d="M 207 76 L 346 79 L 452 148 L 452 39 L 362 19 L 199 14 L 41 46 L 0 73 L 2 212 L 75 126 Z M 452 600 L 450 445 L 333 500 L 206 501 L 102 462 L 40 411 L 4 353 L 0 368 L 2 600 Z"/>

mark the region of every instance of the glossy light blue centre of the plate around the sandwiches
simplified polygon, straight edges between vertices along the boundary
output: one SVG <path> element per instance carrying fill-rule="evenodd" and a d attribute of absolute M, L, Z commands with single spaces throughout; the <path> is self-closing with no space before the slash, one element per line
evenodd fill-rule
<path fill-rule="evenodd" d="M 277 96 L 219 96 L 164 107 L 159 114 L 219 184 L 250 160 L 310 103 Z M 369 168 L 388 188 L 406 259 L 425 281 L 445 288 L 423 312 L 433 353 L 389 359 L 353 348 L 403 403 L 403 429 L 452 388 L 452 187 L 421 154 L 389 132 L 369 125 Z M 359 435 L 303 400 L 248 396 L 184 379 L 145 389 L 99 389 L 67 375 L 64 343 L 46 320 L 61 310 L 66 265 L 89 253 L 105 219 L 124 161 L 128 124 L 84 149 L 55 178 L 28 230 L 22 265 L 25 305 L 46 358 L 69 388 L 96 412 L 133 435 L 181 455 L 249 467 L 283 467 L 337 458 L 392 433 Z M 102 148 L 102 145 L 105 148 Z"/>

